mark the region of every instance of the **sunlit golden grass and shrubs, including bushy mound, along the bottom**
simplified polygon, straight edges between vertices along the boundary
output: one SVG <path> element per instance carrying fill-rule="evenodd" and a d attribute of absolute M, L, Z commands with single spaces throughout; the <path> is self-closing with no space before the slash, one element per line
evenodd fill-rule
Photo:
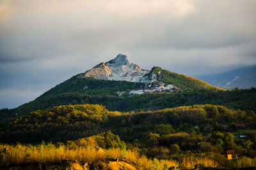
<path fill-rule="evenodd" d="M 7 150 L 6 152 L 3 152 Z M 29 162 L 40 162 L 42 164 L 58 164 L 63 160 L 77 160 L 81 164 L 88 164 L 88 168 L 108 168 L 109 160 L 128 162 L 137 169 L 168 169 L 197 167 L 256 167 L 256 159 L 242 157 L 237 160 L 220 159 L 208 155 L 193 153 L 182 153 L 177 157 L 169 159 L 148 158 L 143 155 L 139 148 L 126 145 L 120 138 L 111 132 L 98 134 L 90 138 L 81 138 L 67 143 L 41 143 L 39 145 L 0 145 L 0 159 L 2 166 L 17 166 Z M 221 157 L 221 155 L 218 155 Z M 222 158 L 222 157 L 221 157 Z"/>

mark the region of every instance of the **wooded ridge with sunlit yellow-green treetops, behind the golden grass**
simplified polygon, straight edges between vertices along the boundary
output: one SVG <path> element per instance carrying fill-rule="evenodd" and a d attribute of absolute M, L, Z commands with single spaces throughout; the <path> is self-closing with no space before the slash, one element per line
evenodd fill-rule
<path fill-rule="evenodd" d="M 150 132 L 207 132 L 207 124 L 244 121 L 255 128 L 253 111 L 229 110 L 224 106 L 193 105 L 138 113 L 111 112 L 94 104 L 56 106 L 32 111 L 29 115 L 13 118 L 0 124 L 0 142 L 37 143 L 67 141 L 113 131 L 125 139 L 147 138 Z"/>

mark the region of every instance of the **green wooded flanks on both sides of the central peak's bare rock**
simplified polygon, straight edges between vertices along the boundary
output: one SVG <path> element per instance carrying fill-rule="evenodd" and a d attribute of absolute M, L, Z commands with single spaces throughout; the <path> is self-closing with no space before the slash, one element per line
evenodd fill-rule
<path fill-rule="evenodd" d="M 153 67 L 151 71 L 145 75 L 148 78 L 156 75 L 157 81 L 167 84 L 173 84 L 182 91 L 188 90 L 214 90 L 218 91 L 218 87 L 209 85 L 208 83 L 198 80 L 184 74 L 173 73 L 167 70 L 163 70 L 160 67 Z M 95 78 L 83 78 L 81 74 L 77 74 L 72 78 L 56 85 L 52 89 L 48 90 L 42 96 L 54 96 L 63 93 L 79 93 L 88 94 L 91 96 L 116 96 L 116 92 L 129 92 L 130 90 L 143 89 L 145 83 L 136 83 L 129 81 L 109 81 L 99 80 Z M 39 98 L 40 98 L 39 97 Z"/>

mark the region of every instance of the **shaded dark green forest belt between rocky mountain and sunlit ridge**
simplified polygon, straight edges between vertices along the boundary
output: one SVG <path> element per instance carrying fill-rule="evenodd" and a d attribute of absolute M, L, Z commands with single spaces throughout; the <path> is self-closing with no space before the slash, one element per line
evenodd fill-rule
<path fill-rule="evenodd" d="M 115 82 L 115 81 L 113 81 Z M 67 104 L 102 104 L 110 111 L 160 110 L 193 104 L 219 104 L 227 108 L 256 111 L 256 89 L 193 90 L 177 93 L 148 93 L 134 96 L 90 96 L 81 93 L 43 95 L 18 108 L 0 110 L 0 118 L 26 115 L 31 111 Z M 17 115 L 15 115 L 17 113 Z"/>

